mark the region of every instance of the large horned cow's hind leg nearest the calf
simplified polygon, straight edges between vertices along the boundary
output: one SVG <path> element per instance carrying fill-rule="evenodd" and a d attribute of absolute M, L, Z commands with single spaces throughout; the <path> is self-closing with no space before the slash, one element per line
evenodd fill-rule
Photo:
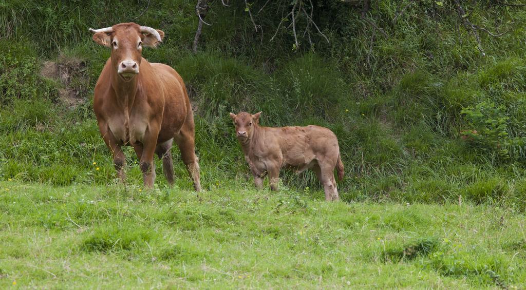
<path fill-rule="evenodd" d="M 201 182 L 199 178 L 199 158 L 197 158 L 195 151 L 194 118 L 190 117 L 187 119 L 188 123 L 185 123 L 174 140 L 181 151 L 181 159 L 186 165 L 186 170 L 194 182 L 194 189 L 200 192 Z"/>

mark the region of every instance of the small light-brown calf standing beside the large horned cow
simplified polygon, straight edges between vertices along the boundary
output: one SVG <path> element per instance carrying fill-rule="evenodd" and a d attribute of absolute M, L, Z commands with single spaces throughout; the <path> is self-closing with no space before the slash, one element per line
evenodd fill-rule
<path fill-rule="evenodd" d="M 270 128 L 259 126 L 261 112 L 250 115 L 230 113 L 236 125 L 236 137 L 245 154 L 245 160 L 254 175 L 258 189 L 263 187 L 266 172 L 270 189 L 278 190 L 281 167 L 294 167 L 297 173 L 312 168 L 323 184 L 326 200 L 338 200 L 338 179 L 343 178 L 343 163 L 336 135 L 329 129 L 310 125 L 307 127 Z"/>

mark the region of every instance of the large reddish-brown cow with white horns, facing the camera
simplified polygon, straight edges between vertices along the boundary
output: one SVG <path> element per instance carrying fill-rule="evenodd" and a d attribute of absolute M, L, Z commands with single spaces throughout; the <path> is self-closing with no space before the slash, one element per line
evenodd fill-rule
<path fill-rule="evenodd" d="M 183 79 L 173 68 L 150 64 L 141 56 L 143 46 L 156 47 L 164 32 L 135 23 L 89 31 L 96 43 L 112 49 L 95 86 L 93 108 L 119 178 L 124 182 L 121 147 L 129 145 L 140 160 L 145 187 L 154 186 L 154 154 L 163 159 L 166 179 L 173 184 L 170 148 L 175 140 L 194 188 L 200 191 L 194 115 Z"/>

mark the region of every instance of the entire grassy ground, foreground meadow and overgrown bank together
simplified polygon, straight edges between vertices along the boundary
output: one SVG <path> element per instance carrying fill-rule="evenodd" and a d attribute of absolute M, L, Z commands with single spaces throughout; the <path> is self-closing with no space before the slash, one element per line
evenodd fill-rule
<path fill-rule="evenodd" d="M 503 2 L 215 1 L 194 53 L 190 1 L 0 0 L 0 288 L 526 288 L 526 8 Z M 298 14 L 296 46 L 295 3 L 329 43 Z M 200 196 L 176 148 L 173 189 L 157 163 L 142 190 L 131 148 L 116 184 L 87 29 L 129 21 L 185 80 Z M 240 110 L 333 130 L 341 201 L 312 172 L 254 191 Z"/>

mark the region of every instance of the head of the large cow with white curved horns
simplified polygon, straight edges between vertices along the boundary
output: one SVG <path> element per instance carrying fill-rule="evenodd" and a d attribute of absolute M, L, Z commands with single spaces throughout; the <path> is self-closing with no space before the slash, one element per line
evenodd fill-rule
<path fill-rule="evenodd" d="M 112 49 L 112 64 L 117 74 L 129 81 L 139 73 L 143 46 L 156 47 L 163 41 L 164 32 L 135 23 L 92 29 L 93 40 Z"/>

